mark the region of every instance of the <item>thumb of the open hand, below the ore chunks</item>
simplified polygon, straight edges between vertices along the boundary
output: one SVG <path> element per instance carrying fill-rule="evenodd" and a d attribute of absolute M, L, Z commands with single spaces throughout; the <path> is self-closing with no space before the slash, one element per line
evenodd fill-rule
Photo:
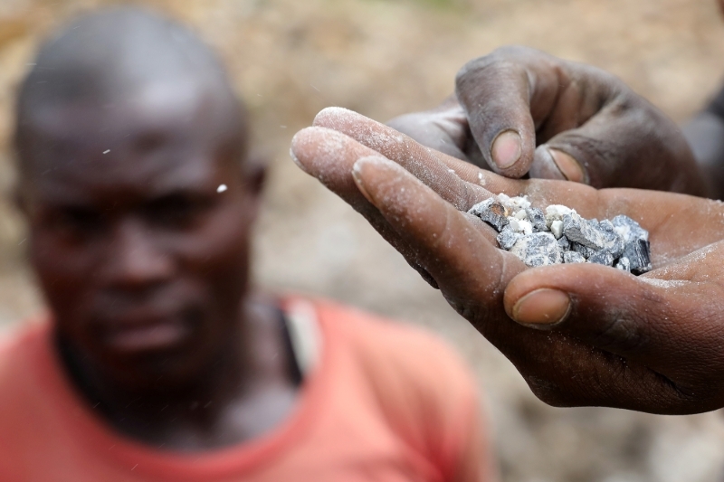
<path fill-rule="evenodd" d="M 706 364 L 724 365 L 709 350 L 721 343 L 711 336 L 711 320 L 720 311 L 715 289 L 586 263 L 522 272 L 503 300 L 508 315 L 523 326 L 573 336 L 680 380 L 690 377 L 688 364 L 704 362 L 703 356 Z"/>

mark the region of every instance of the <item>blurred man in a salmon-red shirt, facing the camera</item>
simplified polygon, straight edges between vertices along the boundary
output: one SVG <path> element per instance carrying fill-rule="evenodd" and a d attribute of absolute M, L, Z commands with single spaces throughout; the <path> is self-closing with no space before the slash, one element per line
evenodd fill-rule
<path fill-rule="evenodd" d="M 489 480 L 433 337 L 249 287 L 263 169 L 214 55 L 132 9 L 43 46 L 18 203 L 50 314 L 0 342 L 0 480 Z"/>

